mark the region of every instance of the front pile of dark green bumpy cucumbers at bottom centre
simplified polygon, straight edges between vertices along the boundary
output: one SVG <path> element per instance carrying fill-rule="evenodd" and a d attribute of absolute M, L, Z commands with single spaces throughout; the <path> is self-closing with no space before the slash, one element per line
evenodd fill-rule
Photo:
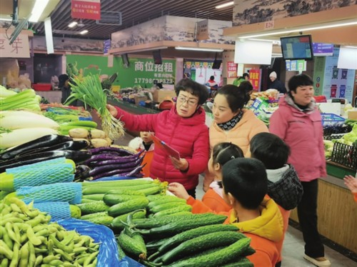
<path fill-rule="evenodd" d="M 138 211 L 140 212 L 140 211 Z M 224 225 L 213 213 L 127 217 L 116 236 L 126 255 L 145 266 L 253 266 L 246 256 L 255 251 L 251 239 Z"/>

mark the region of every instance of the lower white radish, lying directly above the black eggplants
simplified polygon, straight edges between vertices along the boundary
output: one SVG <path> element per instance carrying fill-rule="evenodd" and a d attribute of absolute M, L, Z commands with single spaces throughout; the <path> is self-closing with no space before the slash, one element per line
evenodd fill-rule
<path fill-rule="evenodd" d="M 10 131 L 9 133 L 0 133 L 0 148 L 19 146 L 22 143 L 26 143 L 49 134 L 58 134 L 58 132 L 51 128 L 35 127 L 16 129 Z"/>

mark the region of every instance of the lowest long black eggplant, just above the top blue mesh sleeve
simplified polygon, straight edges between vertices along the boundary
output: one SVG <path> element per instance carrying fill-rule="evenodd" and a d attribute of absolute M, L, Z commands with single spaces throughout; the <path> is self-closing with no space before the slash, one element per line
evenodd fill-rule
<path fill-rule="evenodd" d="M 0 171 L 4 172 L 6 168 L 14 168 L 17 166 L 28 165 L 28 164 L 37 163 L 52 158 L 61 158 L 61 157 L 70 158 L 75 163 L 81 163 L 91 157 L 91 152 L 56 150 L 56 151 L 46 151 L 41 153 L 29 154 L 19 158 L 13 158 L 9 161 L 1 162 Z"/>

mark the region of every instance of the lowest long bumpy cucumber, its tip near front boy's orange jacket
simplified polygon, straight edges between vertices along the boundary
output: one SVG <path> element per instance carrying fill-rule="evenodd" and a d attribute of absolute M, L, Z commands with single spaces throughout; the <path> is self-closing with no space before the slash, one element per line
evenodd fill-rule
<path fill-rule="evenodd" d="M 241 253 L 248 248 L 251 238 L 241 238 L 235 243 L 222 248 L 219 251 L 200 256 L 183 258 L 175 261 L 167 267 L 216 267 L 230 263 L 241 256 Z"/>

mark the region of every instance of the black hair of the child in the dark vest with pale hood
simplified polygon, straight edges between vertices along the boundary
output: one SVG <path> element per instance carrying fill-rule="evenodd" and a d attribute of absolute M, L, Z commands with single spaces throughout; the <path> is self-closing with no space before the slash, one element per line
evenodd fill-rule
<path fill-rule="evenodd" d="M 290 155 L 289 146 L 273 133 L 257 133 L 250 146 L 251 157 L 263 162 L 268 170 L 282 168 Z"/>

